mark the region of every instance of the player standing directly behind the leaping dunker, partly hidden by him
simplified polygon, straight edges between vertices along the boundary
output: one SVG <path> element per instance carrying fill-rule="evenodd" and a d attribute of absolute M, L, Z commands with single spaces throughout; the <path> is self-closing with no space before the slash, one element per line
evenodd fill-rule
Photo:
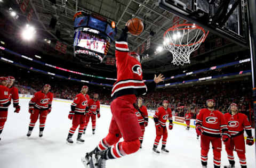
<path fill-rule="evenodd" d="M 139 137 L 140 148 L 142 148 L 142 141 L 143 141 L 143 136 L 145 132 L 145 127 L 148 126 L 148 111 L 147 111 L 147 107 L 142 105 L 141 97 L 138 98 L 138 106 L 134 104 L 134 107 L 136 109 L 135 114 L 138 117 L 138 121 L 142 131 L 142 135 Z"/>

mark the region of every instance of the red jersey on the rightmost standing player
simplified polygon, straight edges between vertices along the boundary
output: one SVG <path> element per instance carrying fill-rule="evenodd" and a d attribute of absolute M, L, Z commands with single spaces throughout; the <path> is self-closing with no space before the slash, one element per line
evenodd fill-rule
<path fill-rule="evenodd" d="M 228 123 L 228 133 L 231 136 L 237 136 L 245 130 L 251 130 L 251 124 L 248 117 L 243 113 L 237 113 L 232 115 L 230 113 L 225 114 L 225 119 Z"/>

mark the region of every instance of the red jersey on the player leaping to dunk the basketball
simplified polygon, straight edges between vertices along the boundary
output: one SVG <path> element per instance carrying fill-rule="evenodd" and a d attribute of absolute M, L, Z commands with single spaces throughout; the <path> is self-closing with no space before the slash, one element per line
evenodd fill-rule
<path fill-rule="evenodd" d="M 140 62 L 128 55 L 127 42 L 116 41 L 117 81 L 113 85 L 111 97 L 123 95 L 145 95 L 147 87 L 142 80 Z"/>

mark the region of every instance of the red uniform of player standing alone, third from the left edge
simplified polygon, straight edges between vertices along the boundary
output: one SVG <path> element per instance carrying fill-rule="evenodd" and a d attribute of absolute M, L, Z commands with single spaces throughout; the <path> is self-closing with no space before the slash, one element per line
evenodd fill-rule
<path fill-rule="evenodd" d="M 35 123 L 39 116 L 39 128 L 44 129 L 45 121 L 49 110 L 52 107 L 53 94 L 49 91 L 47 94 L 42 91 L 35 93 L 29 102 L 29 109 L 34 109 L 34 113 L 30 114 L 30 128 L 35 127 Z"/>

